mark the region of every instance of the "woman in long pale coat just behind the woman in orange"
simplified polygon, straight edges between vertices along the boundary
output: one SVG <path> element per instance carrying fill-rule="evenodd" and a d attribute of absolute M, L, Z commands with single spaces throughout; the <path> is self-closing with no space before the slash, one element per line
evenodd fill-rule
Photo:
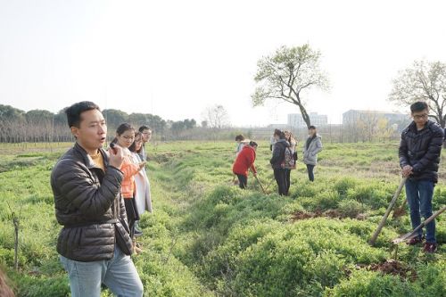
<path fill-rule="evenodd" d="M 135 133 L 135 141 L 128 148 L 131 153 L 131 159 L 134 164 L 140 164 L 142 162 L 141 157 L 138 153 L 141 152 L 143 148 L 143 139 L 141 132 Z M 149 211 L 152 213 L 152 199 L 150 195 L 150 182 L 147 178 L 147 174 L 145 173 L 145 168 L 139 170 L 135 175 L 135 185 L 136 185 L 136 193 L 135 193 L 135 202 L 136 209 L 138 211 L 139 217 L 145 213 L 145 211 Z"/>

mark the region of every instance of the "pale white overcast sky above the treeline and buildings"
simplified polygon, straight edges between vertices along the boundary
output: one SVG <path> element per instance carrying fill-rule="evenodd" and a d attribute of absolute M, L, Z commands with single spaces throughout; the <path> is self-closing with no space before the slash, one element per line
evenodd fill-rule
<path fill-rule="evenodd" d="M 257 61 L 281 45 L 322 53 L 332 88 L 308 111 L 339 123 L 387 102 L 414 60 L 446 62 L 444 1 L 0 0 L 0 104 L 102 109 L 202 120 L 221 104 L 233 125 L 285 123 L 290 103 L 252 108 Z"/>

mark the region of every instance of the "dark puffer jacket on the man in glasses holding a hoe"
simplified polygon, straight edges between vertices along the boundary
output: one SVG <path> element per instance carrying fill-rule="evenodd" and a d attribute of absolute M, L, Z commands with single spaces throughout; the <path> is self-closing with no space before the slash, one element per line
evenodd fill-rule
<path fill-rule="evenodd" d="M 443 142 L 442 128 L 428 120 L 425 128 L 417 131 L 414 121 L 401 133 L 400 165 L 412 166 L 413 174 L 409 178 L 438 181 L 438 166 Z"/>

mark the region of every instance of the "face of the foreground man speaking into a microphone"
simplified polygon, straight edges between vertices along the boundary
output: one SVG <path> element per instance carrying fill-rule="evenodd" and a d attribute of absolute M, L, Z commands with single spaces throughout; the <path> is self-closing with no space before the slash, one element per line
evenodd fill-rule
<path fill-rule="evenodd" d="M 98 110 L 82 112 L 79 127 L 71 127 L 71 133 L 76 136 L 76 141 L 87 153 L 102 147 L 107 136 L 107 125 L 102 112 Z"/>

